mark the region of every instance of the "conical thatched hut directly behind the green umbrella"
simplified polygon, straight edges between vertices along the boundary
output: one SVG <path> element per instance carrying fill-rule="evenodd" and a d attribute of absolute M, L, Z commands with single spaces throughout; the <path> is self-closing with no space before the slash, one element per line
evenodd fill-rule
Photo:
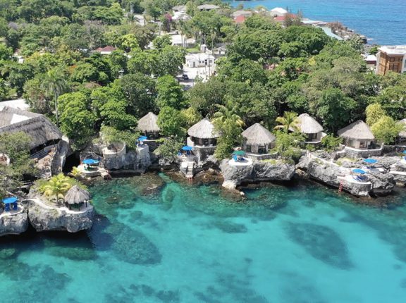
<path fill-rule="evenodd" d="M 276 137 L 259 123 L 251 125 L 241 133 L 242 149 L 252 154 L 267 154 L 275 146 Z"/>

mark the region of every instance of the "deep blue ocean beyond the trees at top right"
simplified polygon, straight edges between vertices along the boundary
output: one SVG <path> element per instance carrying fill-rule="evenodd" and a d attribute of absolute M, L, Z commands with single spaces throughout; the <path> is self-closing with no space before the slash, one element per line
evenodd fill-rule
<path fill-rule="evenodd" d="M 306 18 L 339 21 L 361 35 L 370 44 L 406 44 L 406 0 L 224 0 L 232 6 L 245 8 L 262 5 L 266 8 L 302 10 Z"/>

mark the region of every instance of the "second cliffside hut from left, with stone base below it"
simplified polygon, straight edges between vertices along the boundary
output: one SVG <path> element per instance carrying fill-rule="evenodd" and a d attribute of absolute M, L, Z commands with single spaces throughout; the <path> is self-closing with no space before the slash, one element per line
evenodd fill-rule
<path fill-rule="evenodd" d="M 189 137 L 187 137 L 187 146 L 193 147 L 193 152 L 199 161 L 214 154 L 217 138 L 220 137 L 219 132 L 214 130 L 214 125 L 208 118 L 200 120 L 189 128 L 187 135 L 189 135 Z"/>

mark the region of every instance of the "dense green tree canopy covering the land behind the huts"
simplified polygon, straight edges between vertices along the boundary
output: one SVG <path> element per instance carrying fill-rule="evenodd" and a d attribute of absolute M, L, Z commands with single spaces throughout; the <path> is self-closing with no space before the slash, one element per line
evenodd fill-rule
<path fill-rule="evenodd" d="M 101 129 L 133 140 L 137 119 L 149 111 L 159 114 L 168 142 L 183 142 L 202 117 L 214 120 L 223 134 L 219 158 L 240 143 L 243 128 L 261 123 L 271 130 L 285 112 L 309 113 L 331 135 L 374 112 L 369 124 L 376 137 L 393 141 L 387 132 L 406 116 L 405 75 L 375 75 L 357 41 L 334 40 L 297 20 L 283 27 L 264 13 L 235 24 L 221 1 L 211 1 L 219 10 L 198 11 L 206 2 L 0 0 L 0 100 L 24 97 L 75 149 Z M 179 4 L 190 20 L 171 20 Z M 142 13 L 145 25 L 130 11 Z M 216 75 L 185 92 L 176 76 L 187 51 L 159 36 L 159 27 L 210 48 L 227 44 Z M 116 50 L 92 51 L 106 46 Z"/>

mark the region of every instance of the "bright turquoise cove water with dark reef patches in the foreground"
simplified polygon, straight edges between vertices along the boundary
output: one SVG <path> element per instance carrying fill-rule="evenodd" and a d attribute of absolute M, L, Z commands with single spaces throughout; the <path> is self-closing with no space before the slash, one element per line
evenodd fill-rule
<path fill-rule="evenodd" d="M 405 302 L 405 206 L 312 184 L 240 199 L 164 175 L 92 192 L 89 232 L 0 240 L 1 302 Z"/>

